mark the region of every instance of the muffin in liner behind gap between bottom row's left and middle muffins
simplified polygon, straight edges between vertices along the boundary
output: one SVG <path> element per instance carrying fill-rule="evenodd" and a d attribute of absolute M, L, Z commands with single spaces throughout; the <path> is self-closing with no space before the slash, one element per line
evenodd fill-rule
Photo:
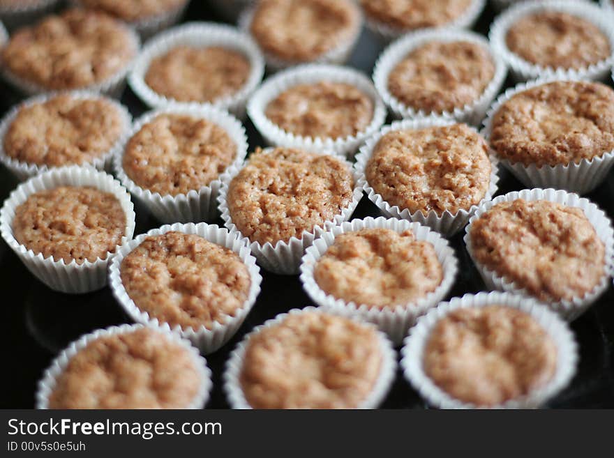
<path fill-rule="evenodd" d="M 204 222 L 151 229 L 121 247 L 109 268 L 111 291 L 131 319 L 172 330 L 202 354 L 237 333 L 261 282 L 246 240 Z"/>

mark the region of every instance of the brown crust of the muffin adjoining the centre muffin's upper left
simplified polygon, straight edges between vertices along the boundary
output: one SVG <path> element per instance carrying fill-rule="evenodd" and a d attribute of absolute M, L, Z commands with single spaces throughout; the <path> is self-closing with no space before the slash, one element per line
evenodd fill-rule
<path fill-rule="evenodd" d="M 209 185 L 236 156 L 237 145 L 216 123 L 159 114 L 130 138 L 122 164 L 141 188 L 177 195 Z"/>

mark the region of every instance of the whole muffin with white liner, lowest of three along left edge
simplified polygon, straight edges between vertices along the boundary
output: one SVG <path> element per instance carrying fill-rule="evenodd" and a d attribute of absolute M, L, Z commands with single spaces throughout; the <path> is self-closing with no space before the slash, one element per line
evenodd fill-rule
<path fill-rule="evenodd" d="M 17 186 L 0 210 L 2 238 L 54 291 L 87 293 L 107 283 L 110 254 L 135 228 L 130 194 L 93 167 L 54 167 Z"/>

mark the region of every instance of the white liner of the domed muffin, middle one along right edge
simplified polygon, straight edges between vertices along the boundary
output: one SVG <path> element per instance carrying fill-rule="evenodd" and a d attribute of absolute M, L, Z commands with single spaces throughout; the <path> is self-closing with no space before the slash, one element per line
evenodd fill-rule
<path fill-rule="evenodd" d="M 501 106 L 517 93 L 526 91 L 535 86 L 541 86 L 554 81 L 574 81 L 569 78 L 540 78 L 532 82 L 521 83 L 514 88 L 502 93 L 486 114 L 484 129 L 481 134 L 489 142 L 492 132 L 493 117 Z M 496 152 L 493 151 L 493 155 Z M 614 150 L 604 151 L 602 155 L 595 156 L 587 160 L 581 159 L 580 162 L 571 162 L 567 165 L 537 165 L 526 166 L 522 162 L 511 162 L 505 158 L 497 157 L 499 162 L 511 171 L 518 180 L 529 188 L 555 188 L 564 189 L 578 194 L 586 194 L 597 188 L 608 176 L 608 172 L 614 165 Z"/>

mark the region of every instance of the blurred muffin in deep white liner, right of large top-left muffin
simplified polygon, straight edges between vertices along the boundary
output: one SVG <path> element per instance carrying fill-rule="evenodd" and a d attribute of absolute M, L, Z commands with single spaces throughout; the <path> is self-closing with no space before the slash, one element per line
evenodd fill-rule
<path fill-rule="evenodd" d="M 128 83 L 152 108 L 209 104 L 242 119 L 263 75 L 264 57 L 247 33 L 225 24 L 190 22 L 148 40 Z"/>

